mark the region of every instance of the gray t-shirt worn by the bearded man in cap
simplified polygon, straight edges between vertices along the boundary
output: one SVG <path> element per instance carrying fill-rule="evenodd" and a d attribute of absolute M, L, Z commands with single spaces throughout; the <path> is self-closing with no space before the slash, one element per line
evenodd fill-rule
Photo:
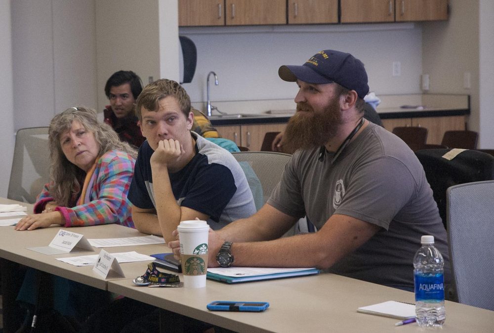
<path fill-rule="evenodd" d="M 434 235 L 450 265 L 447 234 L 425 173 L 400 138 L 369 124 L 331 164 L 334 153 L 297 151 L 268 203 L 307 219 L 318 229 L 332 214 L 352 216 L 382 229 L 329 271 L 373 283 L 413 287 L 413 256 L 420 237 Z"/>

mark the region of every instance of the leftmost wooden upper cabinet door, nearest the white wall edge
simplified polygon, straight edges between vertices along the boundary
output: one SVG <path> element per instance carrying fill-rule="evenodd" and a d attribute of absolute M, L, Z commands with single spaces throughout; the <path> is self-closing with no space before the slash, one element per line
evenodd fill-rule
<path fill-rule="evenodd" d="M 224 26 L 225 0 L 179 0 L 179 26 Z"/>

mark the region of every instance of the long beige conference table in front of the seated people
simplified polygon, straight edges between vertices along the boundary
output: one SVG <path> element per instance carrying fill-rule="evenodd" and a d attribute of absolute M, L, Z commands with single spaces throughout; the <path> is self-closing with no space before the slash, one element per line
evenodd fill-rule
<path fill-rule="evenodd" d="M 0 198 L 0 203 L 26 203 Z M 0 227 L 0 257 L 95 288 L 157 306 L 162 311 L 162 331 L 175 331 L 187 318 L 210 323 L 235 332 L 425 332 L 417 324 L 395 327 L 393 318 L 358 313 L 357 308 L 396 300 L 414 302 L 411 292 L 372 284 L 330 273 L 314 276 L 248 282 L 229 285 L 207 280 L 205 288 L 149 288 L 132 283 L 142 275 L 148 262 L 123 263 L 124 277 L 103 278 L 92 266 L 73 266 L 56 260 L 61 257 L 98 254 L 82 251 L 63 255 L 44 255 L 27 247 L 47 246 L 60 226 L 35 231 L 15 231 Z M 77 227 L 72 231 L 86 238 L 115 238 L 145 235 L 119 225 Z M 169 252 L 164 244 L 104 248 L 110 253 L 136 251 L 141 254 Z M 181 275 L 181 274 L 179 274 Z M 260 313 L 208 311 L 214 300 L 267 301 L 269 308 Z M 219 331 L 219 330 L 217 330 Z M 441 332 L 493 332 L 494 311 L 446 301 L 446 323 Z"/>

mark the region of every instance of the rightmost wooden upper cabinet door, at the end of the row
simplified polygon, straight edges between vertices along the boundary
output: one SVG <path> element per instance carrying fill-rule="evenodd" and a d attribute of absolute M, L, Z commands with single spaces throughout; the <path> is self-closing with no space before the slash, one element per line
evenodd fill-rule
<path fill-rule="evenodd" d="M 396 21 L 441 21 L 448 19 L 448 0 L 396 0 Z"/>

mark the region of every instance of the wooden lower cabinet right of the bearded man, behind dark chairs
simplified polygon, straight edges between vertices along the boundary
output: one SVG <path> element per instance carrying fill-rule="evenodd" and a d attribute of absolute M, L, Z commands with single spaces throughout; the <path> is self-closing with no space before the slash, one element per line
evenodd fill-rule
<path fill-rule="evenodd" d="M 465 116 L 383 119 L 382 124 L 390 132 L 401 126 L 425 127 L 428 130 L 427 143 L 441 144 L 446 131 L 465 130 Z"/>

